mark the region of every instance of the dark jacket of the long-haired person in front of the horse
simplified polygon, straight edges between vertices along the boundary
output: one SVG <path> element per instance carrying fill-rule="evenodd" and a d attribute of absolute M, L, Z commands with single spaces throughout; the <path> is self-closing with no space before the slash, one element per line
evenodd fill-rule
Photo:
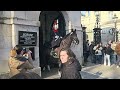
<path fill-rule="evenodd" d="M 82 79 L 80 74 L 81 65 L 76 59 L 71 59 L 68 62 L 62 64 L 60 71 L 60 79 Z"/>

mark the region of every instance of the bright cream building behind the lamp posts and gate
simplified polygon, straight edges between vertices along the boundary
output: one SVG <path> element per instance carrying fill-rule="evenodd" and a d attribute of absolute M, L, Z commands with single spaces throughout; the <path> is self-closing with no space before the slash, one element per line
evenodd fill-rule
<path fill-rule="evenodd" d="M 81 24 L 86 27 L 86 32 L 88 34 L 88 39 L 90 41 L 93 41 L 93 29 L 95 28 L 95 23 L 96 23 L 96 16 L 95 16 L 96 11 L 86 11 L 84 15 L 81 16 Z M 111 28 L 115 28 L 115 23 L 113 21 L 113 17 L 116 14 L 117 18 L 117 31 L 120 30 L 120 11 L 99 11 L 100 15 L 100 28 L 103 29 L 103 35 L 102 36 L 107 36 L 108 34 L 111 36 L 111 33 L 109 33 L 109 30 Z M 105 29 L 106 34 L 104 33 Z M 111 32 L 111 31 L 110 31 Z M 111 37 L 110 37 L 111 38 Z M 102 37 L 102 41 L 106 41 L 106 37 Z M 118 39 L 120 39 L 120 33 L 118 35 Z M 105 41 L 104 41 L 105 40 Z"/>

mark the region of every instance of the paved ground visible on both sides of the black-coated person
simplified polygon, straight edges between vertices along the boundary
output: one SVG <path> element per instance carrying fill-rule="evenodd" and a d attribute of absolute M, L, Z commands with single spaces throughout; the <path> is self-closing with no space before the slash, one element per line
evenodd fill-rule
<path fill-rule="evenodd" d="M 116 65 L 104 66 L 88 62 L 80 72 L 83 79 L 120 79 L 120 68 Z M 44 79 L 59 79 L 58 69 L 42 73 Z"/>

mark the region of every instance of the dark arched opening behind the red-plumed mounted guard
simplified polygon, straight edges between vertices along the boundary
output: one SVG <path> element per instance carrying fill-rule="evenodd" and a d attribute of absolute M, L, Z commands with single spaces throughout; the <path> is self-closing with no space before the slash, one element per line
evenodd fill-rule
<path fill-rule="evenodd" d="M 46 61 L 43 61 L 45 55 L 44 55 L 44 50 L 43 50 L 43 44 L 45 42 L 50 42 L 52 39 L 52 24 L 55 19 L 59 20 L 59 33 L 61 36 L 66 35 L 66 21 L 64 18 L 64 15 L 60 11 L 42 11 L 40 13 L 40 66 L 41 64 L 46 63 Z"/>

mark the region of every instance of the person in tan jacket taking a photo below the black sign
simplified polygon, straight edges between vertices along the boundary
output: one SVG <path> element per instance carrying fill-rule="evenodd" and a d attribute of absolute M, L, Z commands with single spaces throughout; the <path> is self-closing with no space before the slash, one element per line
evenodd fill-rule
<path fill-rule="evenodd" d="M 10 57 L 8 62 L 11 77 L 18 73 L 24 73 L 27 70 L 34 68 L 34 66 L 29 63 L 28 59 L 23 56 L 24 51 L 20 45 L 16 45 L 13 51 L 16 51 L 16 55 Z"/>

